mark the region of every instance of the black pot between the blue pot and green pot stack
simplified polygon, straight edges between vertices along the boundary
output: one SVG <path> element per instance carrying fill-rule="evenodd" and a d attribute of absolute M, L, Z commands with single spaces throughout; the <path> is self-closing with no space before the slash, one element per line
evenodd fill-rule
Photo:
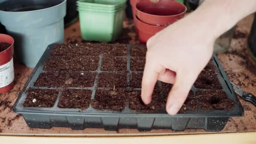
<path fill-rule="evenodd" d="M 67 0 L 67 14 L 64 17 L 65 27 L 78 20 L 77 0 Z"/>

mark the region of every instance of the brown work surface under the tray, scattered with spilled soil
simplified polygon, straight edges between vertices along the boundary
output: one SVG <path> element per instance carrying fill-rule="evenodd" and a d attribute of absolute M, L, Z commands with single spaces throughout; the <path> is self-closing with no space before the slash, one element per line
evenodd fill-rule
<path fill-rule="evenodd" d="M 229 52 L 218 55 L 229 79 L 236 83 L 247 92 L 256 95 L 256 62 L 249 57 L 247 51 L 247 37 L 253 16 L 248 16 L 240 21 L 237 25 L 238 30 L 245 33 L 245 38 L 236 38 L 232 40 Z M 138 43 L 132 21 L 124 22 L 124 34 L 119 39 L 119 43 Z M 86 43 L 80 37 L 79 22 L 74 23 L 65 31 L 66 43 Z M 246 58 L 248 57 L 248 58 Z M 246 60 L 245 60 L 246 59 Z M 7 106 L 0 106 L 0 135 L 112 135 L 112 134 L 129 134 L 129 135 L 145 135 L 145 134 L 199 134 L 199 133 L 232 133 L 256 131 L 256 108 L 240 99 L 245 116 L 238 118 L 230 118 L 224 130 L 219 132 L 207 132 L 205 130 L 185 130 L 175 132 L 171 130 L 152 130 L 147 132 L 139 132 L 135 129 L 119 129 L 118 131 L 105 131 L 104 129 L 85 129 L 71 130 L 70 128 L 51 128 L 51 129 L 31 129 L 27 127 L 26 122 L 20 115 L 14 113 L 11 106 L 15 103 L 16 98 L 24 87 L 28 76 L 33 69 L 26 68 L 24 65 L 15 63 L 15 86 L 7 94 L 0 94 L 1 103 L 3 101 Z"/>

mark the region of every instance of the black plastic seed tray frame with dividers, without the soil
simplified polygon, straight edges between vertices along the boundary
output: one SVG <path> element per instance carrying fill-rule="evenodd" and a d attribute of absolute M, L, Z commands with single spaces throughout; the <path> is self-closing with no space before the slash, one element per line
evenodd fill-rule
<path fill-rule="evenodd" d="M 138 129 L 146 131 L 151 129 L 170 129 L 174 131 L 184 131 L 185 129 L 205 129 L 206 131 L 220 131 L 224 128 L 230 117 L 239 117 L 243 115 L 243 109 L 238 101 L 234 89 L 231 87 L 230 81 L 216 55 L 213 56 L 212 63 L 216 67 L 218 80 L 229 99 L 235 101 L 231 110 L 213 110 L 213 111 L 186 111 L 175 116 L 166 113 L 165 107 L 158 111 L 143 112 L 129 109 L 129 101 L 127 101 L 125 109 L 122 111 L 96 110 L 91 105 L 88 109 L 61 109 L 58 107 L 61 92 L 65 89 L 90 89 L 92 90 L 91 99 L 95 97 L 97 80 L 100 73 L 110 71 L 101 71 L 101 62 L 104 55 L 99 55 L 98 69 L 93 87 L 35 87 L 34 82 L 38 79 L 40 73 L 44 73 L 44 62 L 50 56 L 54 45 L 49 45 L 44 55 L 38 62 L 28 79 L 24 89 L 19 95 L 14 105 L 14 111 L 21 113 L 28 127 L 49 129 L 52 127 L 70 127 L 73 130 L 82 130 L 85 128 L 104 128 L 105 130 L 117 130 L 119 128 Z M 130 85 L 130 62 L 131 62 L 131 46 L 127 45 L 127 86 Z M 86 72 L 86 71 L 82 71 Z M 138 71 L 137 71 L 138 72 Z M 136 71 L 135 71 L 136 73 Z M 159 87 L 161 87 L 159 82 Z M 27 89 L 57 89 L 59 95 L 53 107 L 24 107 L 23 103 L 26 99 Z M 98 88 L 102 89 L 102 88 Z M 104 88 L 103 88 L 104 89 Z M 133 88 L 134 91 L 140 91 L 140 88 Z M 193 92 L 201 91 L 193 86 Z M 162 95 L 161 95 L 162 96 Z"/>

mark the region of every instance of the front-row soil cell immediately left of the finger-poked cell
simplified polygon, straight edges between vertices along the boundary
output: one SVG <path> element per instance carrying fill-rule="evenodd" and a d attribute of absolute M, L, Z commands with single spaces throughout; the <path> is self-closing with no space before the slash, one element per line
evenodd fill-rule
<path fill-rule="evenodd" d="M 97 89 L 92 107 L 97 110 L 122 111 L 127 101 L 127 93 L 124 88 L 115 90 Z"/>

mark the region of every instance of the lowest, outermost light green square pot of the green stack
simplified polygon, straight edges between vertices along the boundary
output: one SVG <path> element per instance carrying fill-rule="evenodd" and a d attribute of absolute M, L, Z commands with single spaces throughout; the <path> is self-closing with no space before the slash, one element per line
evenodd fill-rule
<path fill-rule="evenodd" d="M 117 40 L 123 30 L 125 9 L 115 13 L 78 9 L 82 38 L 108 43 Z"/>

